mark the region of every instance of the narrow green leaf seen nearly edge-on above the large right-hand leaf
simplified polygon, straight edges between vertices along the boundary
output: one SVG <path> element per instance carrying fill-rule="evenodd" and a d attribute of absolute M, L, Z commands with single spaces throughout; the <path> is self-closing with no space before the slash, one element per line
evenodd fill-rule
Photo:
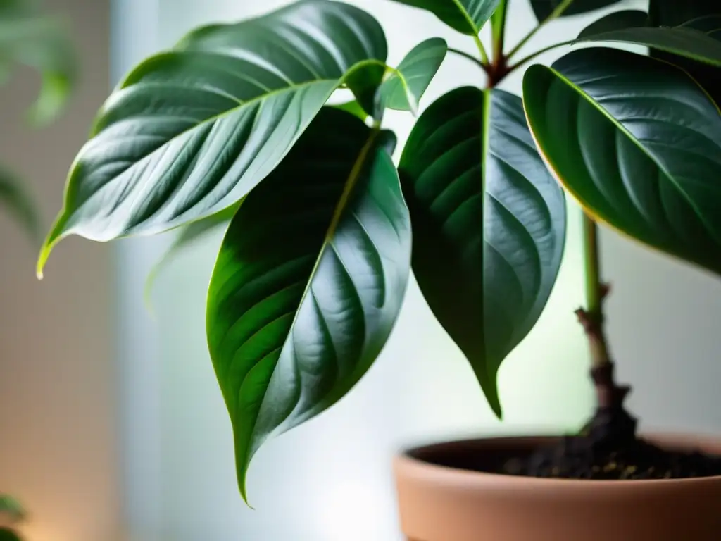
<path fill-rule="evenodd" d="M 649 27 L 648 15 L 629 10 L 606 15 L 585 28 L 576 43 L 619 42 L 646 45 L 678 56 L 721 66 L 721 41 L 691 27 Z"/>

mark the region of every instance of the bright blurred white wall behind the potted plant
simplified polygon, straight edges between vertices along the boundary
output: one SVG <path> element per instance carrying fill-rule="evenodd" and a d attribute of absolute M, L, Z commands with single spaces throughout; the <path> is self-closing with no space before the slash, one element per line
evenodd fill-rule
<path fill-rule="evenodd" d="M 163 45 L 195 25 L 248 17 L 287 3 L 159 1 Z M 431 35 L 473 50 L 467 38 L 429 14 L 389 0 L 353 3 L 386 27 L 392 62 Z M 513 1 L 509 19 L 508 43 L 516 43 L 534 24 L 526 1 Z M 588 20 L 557 22 L 532 45 L 570 37 Z M 401 24 L 407 30 L 400 30 Z M 520 73 L 512 76 L 505 88 L 518 92 L 520 78 Z M 448 58 L 423 105 L 452 87 L 482 82 L 472 64 Z M 410 115 L 392 114 L 388 120 L 403 141 L 412 126 Z M 130 472 L 143 483 L 152 480 L 159 495 L 156 538 L 396 540 L 389 461 L 402 445 L 578 426 L 590 412 L 591 393 L 585 343 L 572 313 L 583 302 L 578 214 L 572 213 L 570 221 L 565 265 L 547 312 L 501 369 L 504 423 L 492 417 L 472 372 L 413 283 L 388 346 L 358 387 L 335 408 L 257 455 L 248 483 L 255 511 L 237 493 L 230 423 L 205 347 L 205 290 L 220 237 L 185 252 L 156 286 L 159 366 L 157 379 L 143 388 L 146 393 L 159 389 L 159 402 L 149 398 L 126 410 L 136 415 L 128 420 L 131 431 L 133 423 L 149 431 L 148 418 L 157 421 L 148 460 L 138 454 L 136 466 L 143 467 Z M 605 234 L 603 241 L 605 270 L 615 286 L 609 305 L 611 339 L 621 377 L 637 387 L 632 407 L 654 426 L 721 429 L 712 408 L 712 385 L 718 381 L 713 376 L 721 371 L 712 363 L 721 345 L 712 332 L 721 311 L 719 284 L 613 234 Z M 136 321 L 141 316 L 135 309 L 126 317 Z M 696 392 L 699 387 L 704 394 Z M 129 501 L 146 494 L 139 487 L 128 493 Z"/>

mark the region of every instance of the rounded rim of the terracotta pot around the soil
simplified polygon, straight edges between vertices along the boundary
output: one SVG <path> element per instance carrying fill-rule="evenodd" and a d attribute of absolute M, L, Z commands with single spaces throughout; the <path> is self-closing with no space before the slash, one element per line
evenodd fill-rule
<path fill-rule="evenodd" d="M 406 470 L 406 472 L 417 472 L 425 474 L 443 475 L 443 477 L 451 480 L 463 480 L 464 483 L 477 481 L 478 483 L 500 483 L 503 485 L 528 485 L 532 484 L 536 488 L 562 488 L 562 487 L 574 487 L 583 488 L 592 485 L 593 487 L 603 488 L 619 488 L 621 486 L 633 486 L 637 488 L 647 488 L 649 485 L 655 487 L 668 486 L 668 485 L 691 485 L 691 484 L 705 484 L 705 483 L 719 483 L 721 481 L 721 475 L 712 475 L 707 477 L 696 477 L 696 478 L 681 478 L 681 479 L 629 479 L 629 480 L 611 480 L 611 479 L 559 479 L 559 478 L 536 478 L 528 477 L 526 475 L 510 475 L 503 473 L 491 473 L 491 472 L 479 472 L 476 470 L 466 470 L 460 467 L 452 467 L 446 465 L 435 464 L 428 462 L 427 460 L 420 459 L 413 456 L 413 453 L 417 452 L 433 452 L 439 451 L 447 447 L 471 447 L 482 444 L 484 442 L 492 442 L 496 444 L 516 444 L 526 446 L 533 444 L 549 443 L 554 440 L 561 439 L 563 436 L 550 436 L 548 434 L 541 434 L 537 436 L 523 435 L 523 436 L 490 436 L 485 438 L 469 438 L 469 439 L 456 439 L 448 441 L 438 441 L 433 444 L 417 445 L 414 447 L 408 447 L 403 449 L 394 457 L 394 469 L 398 472 L 399 469 Z M 651 441 L 654 444 L 658 444 L 661 447 L 671 447 L 672 449 L 687 449 L 689 451 L 699 449 L 711 448 L 715 449 L 714 453 L 721 454 L 721 436 L 708 436 L 708 435 L 694 435 L 684 432 L 650 432 L 641 433 L 640 437 Z"/>

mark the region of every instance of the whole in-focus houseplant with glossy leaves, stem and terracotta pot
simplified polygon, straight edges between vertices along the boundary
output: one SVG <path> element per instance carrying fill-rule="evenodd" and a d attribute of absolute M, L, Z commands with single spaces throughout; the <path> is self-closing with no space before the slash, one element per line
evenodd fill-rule
<path fill-rule="evenodd" d="M 578 318 L 596 415 L 568 439 L 485 440 L 401 457 L 404 530 L 424 541 L 477 539 L 482 528 L 504 540 L 712 539 L 717 459 L 681 452 L 678 441 L 662 449 L 638 439 L 623 408 L 628 389 L 614 381 L 603 334 L 609 289 L 596 221 L 720 270 L 721 115 L 711 96 L 721 14 L 706 2 L 651 0 L 649 12 L 601 17 L 557 45 L 584 48 L 526 69 L 521 100 L 497 84 L 536 58 L 518 54 L 535 30 L 505 48 L 508 1 L 402 3 L 469 36 L 477 55 L 429 38 L 386 66 L 383 30 L 370 15 L 305 0 L 201 27 L 141 63 L 102 107 L 71 168 L 38 273 L 71 234 L 109 241 L 182 227 L 184 239 L 232 216 L 207 330 L 245 497 L 262 443 L 340 400 L 376 359 L 411 268 L 500 416 L 498 366 L 541 314 L 561 260 L 556 177 L 585 208 L 588 303 Z M 531 1 L 539 27 L 612 4 Z M 478 37 L 487 22 L 490 53 Z M 614 42 L 652 56 L 598 45 Z M 430 105 L 396 165 L 384 110 L 415 113 L 448 53 L 485 71 L 487 88 L 453 89 Z M 338 89 L 355 100 L 327 106 Z M 622 512 L 641 497 L 653 513 Z"/>

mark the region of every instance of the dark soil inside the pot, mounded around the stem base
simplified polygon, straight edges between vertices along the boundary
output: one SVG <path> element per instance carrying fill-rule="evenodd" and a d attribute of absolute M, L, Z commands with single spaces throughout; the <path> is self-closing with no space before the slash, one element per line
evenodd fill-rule
<path fill-rule="evenodd" d="M 660 449 L 635 434 L 622 408 L 599 408 L 578 436 L 567 436 L 529 457 L 512 459 L 499 473 L 536 478 L 632 480 L 721 475 L 721 457 Z"/>

